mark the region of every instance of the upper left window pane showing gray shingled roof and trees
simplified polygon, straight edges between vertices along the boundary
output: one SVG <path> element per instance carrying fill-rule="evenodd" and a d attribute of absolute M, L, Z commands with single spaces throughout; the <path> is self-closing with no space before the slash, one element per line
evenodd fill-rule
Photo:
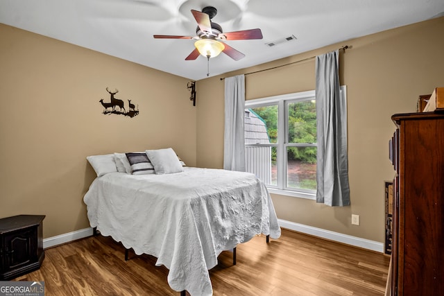
<path fill-rule="evenodd" d="M 278 143 L 278 105 L 245 110 L 245 143 Z"/>

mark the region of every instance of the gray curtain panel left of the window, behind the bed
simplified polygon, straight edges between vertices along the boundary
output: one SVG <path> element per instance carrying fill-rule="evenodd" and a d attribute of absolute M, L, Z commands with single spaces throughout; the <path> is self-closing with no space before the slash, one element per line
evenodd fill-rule
<path fill-rule="evenodd" d="M 223 168 L 245 171 L 245 76 L 225 78 L 225 132 Z"/>

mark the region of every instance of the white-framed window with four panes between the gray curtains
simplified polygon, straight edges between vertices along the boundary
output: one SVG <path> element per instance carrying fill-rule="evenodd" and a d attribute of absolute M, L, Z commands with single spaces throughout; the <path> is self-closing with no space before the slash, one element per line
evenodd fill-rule
<path fill-rule="evenodd" d="M 269 191 L 315 199 L 316 98 L 314 91 L 245 103 L 246 171 Z"/>

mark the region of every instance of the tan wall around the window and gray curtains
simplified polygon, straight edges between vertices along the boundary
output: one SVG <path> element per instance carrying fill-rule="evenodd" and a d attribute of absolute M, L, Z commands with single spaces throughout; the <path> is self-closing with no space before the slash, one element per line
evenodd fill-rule
<path fill-rule="evenodd" d="M 415 112 L 422 94 L 444 87 L 444 17 L 333 44 L 223 77 L 250 73 L 310 58 L 343 45 L 341 85 L 348 91 L 350 207 L 327 207 L 313 200 L 273 194 L 278 218 L 333 232 L 384 241 L 384 181 L 394 176 L 388 161 L 391 115 Z M 293 44 L 292 46 L 297 46 Z M 278 50 L 278 49 L 276 49 Z M 223 166 L 222 76 L 196 83 L 198 166 Z M 246 76 L 246 99 L 314 89 L 314 60 Z M 418 157 L 420 160 L 420 157 Z M 361 225 L 351 225 L 358 214 Z"/>

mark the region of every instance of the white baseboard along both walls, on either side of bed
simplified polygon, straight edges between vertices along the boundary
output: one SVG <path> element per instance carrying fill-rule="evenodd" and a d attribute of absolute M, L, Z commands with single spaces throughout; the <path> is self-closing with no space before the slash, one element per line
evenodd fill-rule
<path fill-rule="evenodd" d="M 294 230 L 295 232 L 302 232 L 303 234 L 310 234 L 312 236 L 318 236 L 330 241 L 337 241 L 339 243 L 345 243 L 347 245 L 353 245 L 355 247 L 362 247 L 364 249 L 372 250 L 375 252 L 384 252 L 384 243 L 370 241 L 368 239 L 359 238 L 356 236 L 349 236 L 347 234 L 340 234 L 339 232 L 330 232 L 330 230 L 311 227 L 287 220 L 278 219 L 278 221 L 281 227 Z M 59 236 L 45 238 L 43 240 L 43 248 L 46 249 L 55 245 L 62 245 L 63 243 L 76 241 L 77 239 L 85 238 L 87 236 L 92 236 L 92 227 L 76 230 L 75 232 L 69 232 L 67 234 L 60 234 Z"/>

